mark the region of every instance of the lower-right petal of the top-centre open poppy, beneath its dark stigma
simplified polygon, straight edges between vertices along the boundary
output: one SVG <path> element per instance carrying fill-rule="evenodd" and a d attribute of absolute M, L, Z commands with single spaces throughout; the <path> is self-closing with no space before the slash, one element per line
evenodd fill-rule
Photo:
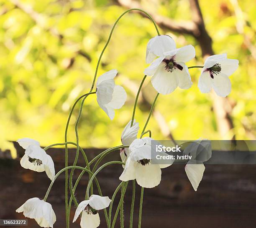
<path fill-rule="evenodd" d="M 177 62 L 177 64 L 183 67 L 182 70 L 179 70 L 178 68 L 176 68 L 176 72 L 175 72 L 177 74 L 177 78 L 179 79 L 179 88 L 189 89 L 192 85 L 192 81 L 190 78 L 188 68 L 185 65 L 185 63 Z"/>

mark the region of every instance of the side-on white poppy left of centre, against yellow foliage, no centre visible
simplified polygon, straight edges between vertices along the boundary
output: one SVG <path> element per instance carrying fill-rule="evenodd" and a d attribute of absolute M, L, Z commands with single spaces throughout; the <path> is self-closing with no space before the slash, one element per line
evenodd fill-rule
<path fill-rule="evenodd" d="M 97 80 L 97 102 L 100 108 L 107 113 L 110 120 L 113 120 L 115 116 L 114 109 L 121 108 L 127 98 L 124 88 L 120 85 L 115 85 L 114 78 L 117 73 L 117 70 L 110 70 L 101 75 Z"/>

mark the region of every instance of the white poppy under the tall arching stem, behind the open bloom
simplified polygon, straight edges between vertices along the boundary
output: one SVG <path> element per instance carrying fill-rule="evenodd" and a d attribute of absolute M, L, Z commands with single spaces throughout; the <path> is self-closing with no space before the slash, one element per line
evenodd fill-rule
<path fill-rule="evenodd" d="M 176 44 L 169 35 L 158 35 L 148 41 L 146 50 L 146 63 L 151 63 L 156 57 L 164 52 L 174 50 Z"/>

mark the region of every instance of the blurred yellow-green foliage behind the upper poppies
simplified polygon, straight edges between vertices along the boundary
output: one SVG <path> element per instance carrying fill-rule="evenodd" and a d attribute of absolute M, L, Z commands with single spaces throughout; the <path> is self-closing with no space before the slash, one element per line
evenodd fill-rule
<path fill-rule="evenodd" d="M 8 0 L 0 0 L 0 132 L 5 140 L 34 138 L 41 145 L 61 143 L 74 101 L 90 90 L 97 60 L 110 29 L 125 10 L 107 0 L 24 0 L 20 9 Z M 148 0 L 143 9 L 176 20 L 191 18 L 187 0 Z M 238 59 L 239 68 L 231 75 L 234 104 L 231 116 L 237 139 L 256 138 L 256 4 L 239 1 L 242 14 L 237 15 L 232 1 L 200 1 L 215 53 L 227 53 Z M 210 5 L 210 8 L 209 8 Z M 31 10 L 32 9 L 32 10 Z M 27 12 L 24 12 L 27 11 Z M 242 17 L 242 18 L 239 18 Z M 244 21 L 239 27 L 239 22 Z M 163 31 L 171 35 L 177 47 L 191 43 L 196 58 L 187 63 L 202 65 L 200 46 L 189 35 Z M 135 93 L 146 68 L 148 40 L 156 35 L 154 25 L 141 15 L 129 13 L 118 23 L 106 49 L 98 76 L 110 69 L 119 72 L 116 83 L 123 85 L 128 100 L 116 110 L 113 121 L 99 108 L 96 96 L 85 102 L 79 124 L 79 141 L 83 147 L 120 145 L 120 134 L 131 119 Z M 248 42 L 251 45 L 248 47 Z M 82 53 L 82 55 L 81 55 Z M 255 53 L 254 53 L 255 54 Z M 197 88 L 200 70 L 190 70 L 193 85 L 189 90 L 177 89 L 170 95 L 160 95 L 156 108 L 176 139 L 220 139 L 209 94 Z M 156 92 L 146 79 L 144 93 L 152 102 Z M 75 141 L 74 123 L 79 106 L 74 111 L 68 139 Z M 142 129 L 148 108 L 138 104 L 136 121 Z M 148 129 L 153 137 L 165 139 L 155 118 Z"/>

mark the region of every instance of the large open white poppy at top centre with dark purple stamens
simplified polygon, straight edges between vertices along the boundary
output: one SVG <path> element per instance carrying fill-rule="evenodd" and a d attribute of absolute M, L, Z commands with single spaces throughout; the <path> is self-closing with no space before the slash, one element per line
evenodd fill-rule
<path fill-rule="evenodd" d="M 192 85 L 185 62 L 195 57 L 195 48 L 187 45 L 165 52 L 144 70 L 144 74 L 153 76 L 151 83 L 158 93 L 172 93 L 177 86 L 188 89 Z"/>

